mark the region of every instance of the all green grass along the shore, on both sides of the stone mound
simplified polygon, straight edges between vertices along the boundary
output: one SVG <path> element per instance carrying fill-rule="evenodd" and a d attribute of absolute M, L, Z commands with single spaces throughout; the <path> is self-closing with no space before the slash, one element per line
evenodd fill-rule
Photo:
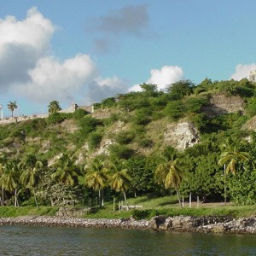
<path fill-rule="evenodd" d="M 116 211 L 113 212 L 113 201 L 106 202 L 104 207 L 97 208 L 95 213 L 87 213 L 84 218 L 152 218 L 156 215 L 166 216 L 226 216 L 230 218 L 247 218 L 256 216 L 256 206 L 235 206 L 228 203 L 226 206 L 223 203 L 192 203 L 189 208 L 189 203 L 185 202 L 181 208 L 177 203 L 175 195 L 148 198 L 141 196 L 137 198 L 128 198 L 130 206 L 143 206 L 141 210 L 131 210 L 119 212 L 119 202 L 116 201 Z M 49 215 L 54 216 L 58 211 L 58 207 L 0 207 L 0 217 L 18 217 L 26 215 Z"/>

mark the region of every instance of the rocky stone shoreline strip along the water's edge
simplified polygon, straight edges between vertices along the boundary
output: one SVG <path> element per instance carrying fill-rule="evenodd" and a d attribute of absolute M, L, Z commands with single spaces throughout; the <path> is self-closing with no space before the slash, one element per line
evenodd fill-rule
<path fill-rule="evenodd" d="M 227 217 L 157 216 L 150 220 L 136 220 L 134 218 L 21 216 L 17 218 L 0 218 L 1 225 L 256 234 L 255 217 L 235 219 Z"/>

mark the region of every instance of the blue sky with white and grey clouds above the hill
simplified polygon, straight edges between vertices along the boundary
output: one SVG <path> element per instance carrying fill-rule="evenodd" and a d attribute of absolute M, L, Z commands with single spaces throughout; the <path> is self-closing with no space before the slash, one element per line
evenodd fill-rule
<path fill-rule="evenodd" d="M 254 0 L 0 0 L 0 103 L 90 105 L 139 84 L 256 69 Z"/>

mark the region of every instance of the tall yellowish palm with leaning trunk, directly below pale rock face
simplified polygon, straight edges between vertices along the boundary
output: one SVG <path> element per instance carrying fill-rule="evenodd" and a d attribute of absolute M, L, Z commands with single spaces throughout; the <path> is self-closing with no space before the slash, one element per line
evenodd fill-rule
<path fill-rule="evenodd" d="M 179 166 L 179 159 L 173 148 L 168 148 L 168 150 L 163 155 L 163 160 L 165 163 L 157 166 L 155 170 L 155 178 L 157 183 L 164 183 L 166 189 L 176 189 L 177 199 L 181 207 L 182 203 L 180 201 L 180 196 L 178 192 L 178 186 L 183 180 L 183 171 Z"/>

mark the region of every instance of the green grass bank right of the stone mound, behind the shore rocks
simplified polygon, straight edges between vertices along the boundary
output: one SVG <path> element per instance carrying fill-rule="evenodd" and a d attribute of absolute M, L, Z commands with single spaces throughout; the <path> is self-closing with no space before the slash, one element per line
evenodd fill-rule
<path fill-rule="evenodd" d="M 137 197 L 128 199 L 130 206 L 143 206 L 140 210 L 113 212 L 113 202 L 105 203 L 104 207 L 98 209 L 96 213 L 85 215 L 85 218 L 130 218 L 131 215 L 137 219 L 152 218 L 157 215 L 166 216 L 222 216 L 230 218 L 247 218 L 256 215 L 256 206 L 235 206 L 228 203 L 226 206 L 223 203 L 192 203 L 189 208 L 189 202 L 184 203 L 181 208 L 177 203 L 176 196 L 166 196 L 159 198 L 148 199 L 147 197 Z M 117 208 L 117 204 L 116 204 Z"/>

